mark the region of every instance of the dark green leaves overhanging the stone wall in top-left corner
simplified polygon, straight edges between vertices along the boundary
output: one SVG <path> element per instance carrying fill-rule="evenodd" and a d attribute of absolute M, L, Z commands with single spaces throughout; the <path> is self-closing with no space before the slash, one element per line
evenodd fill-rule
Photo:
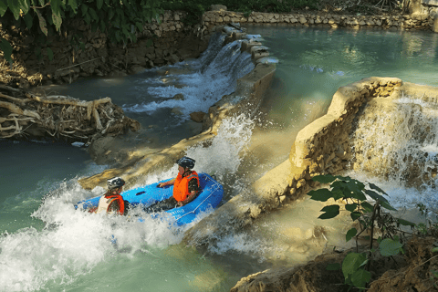
<path fill-rule="evenodd" d="M 111 42 L 126 45 L 137 41 L 136 32 L 145 23 L 159 20 L 162 13 L 159 5 L 160 0 L 0 0 L 0 16 L 9 13 L 19 26 L 32 29 L 36 47 L 47 45 L 48 36 L 60 34 L 66 20 L 77 18 L 83 19 L 93 31 L 106 32 Z M 1 40 L 0 49 L 10 63 L 11 48 L 5 39 Z M 38 52 L 40 56 L 40 48 Z M 47 56 L 53 58 L 51 49 L 47 49 Z"/>

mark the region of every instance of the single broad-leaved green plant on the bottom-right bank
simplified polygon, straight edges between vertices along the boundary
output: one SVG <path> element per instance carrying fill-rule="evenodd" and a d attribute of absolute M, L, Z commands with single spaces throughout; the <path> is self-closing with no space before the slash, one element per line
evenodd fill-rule
<path fill-rule="evenodd" d="M 308 193 L 310 198 L 315 201 L 327 202 L 328 199 L 342 201 L 345 203 L 345 210 L 353 221 L 358 221 L 360 230 L 355 227 L 349 229 L 345 239 L 348 242 L 352 238 L 356 239 L 357 252 L 349 253 L 342 262 L 342 273 L 345 278 L 345 284 L 350 287 L 365 288 L 370 281 L 371 274 L 370 264 L 372 254 L 379 251 L 383 256 L 398 255 L 404 253 L 400 238 L 396 235 L 400 225 L 414 226 L 409 221 L 394 218 L 391 214 L 382 212 L 382 208 L 386 210 L 396 211 L 391 206 L 388 200 L 383 196 L 388 196 L 381 188 L 373 183 L 361 183 L 358 180 L 350 177 L 333 176 L 333 175 L 318 175 L 313 178 L 319 183 L 330 183 L 329 189 L 318 189 Z M 367 195 L 375 201 L 371 204 Z M 330 219 L 340 214 L 339 204 L 331 204 L 321 209 L 323 214 L 319 215 L 319 219 Z M 374 228 L 377 226 L 381 232 L 381 237 L 377 239 L 379 247 L 377 250 L 373 248 Z M 358 240 L 359 236 L 365 231 L 370 232 L 369 252 L 359 253 Z M 339 269 L 339 265 L 330 265 L 328 269 Z"/>

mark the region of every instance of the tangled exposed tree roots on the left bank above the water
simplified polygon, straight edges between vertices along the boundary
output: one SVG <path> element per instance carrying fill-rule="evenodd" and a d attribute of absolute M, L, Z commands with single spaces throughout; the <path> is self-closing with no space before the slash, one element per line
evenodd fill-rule
<path fill-rule="evenodd" d="M 84 101 L 65 96 L 37 96 L 0 86 L 0 138 L 48 137 L 59 141 L 91 142 L 139 130 L 110 98 Z"/>

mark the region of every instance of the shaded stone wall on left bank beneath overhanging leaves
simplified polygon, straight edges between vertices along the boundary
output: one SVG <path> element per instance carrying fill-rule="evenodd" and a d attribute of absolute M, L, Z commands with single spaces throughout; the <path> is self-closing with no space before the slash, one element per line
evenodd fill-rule
<path fill-rule="evenodd" d="M 207 47 L 210 35 L 201 35 L 199 25 L 184 26 L 183 17 L 183 12 L 165 12 L 160 24 L 153 20 L 143 26 L 137 43 L 126 47 L 111 44 L 105 33 L 99 29 L 93 32 L 84 20 L 72 20 L 62 35 L 49 37 L 52 60 L 47 56 L 47 47 L 42 47 L 41 58 L 36 57 L 34 36 L 14 25 L 0 24 L 0 36 L 15 48 L 14 68 L 5 69 L 1 81 L 21 87 L 71 83 L 79 77 L 124 76 L 198 57 Z M 73 41 L 75 37 L 82 45 Z"/>

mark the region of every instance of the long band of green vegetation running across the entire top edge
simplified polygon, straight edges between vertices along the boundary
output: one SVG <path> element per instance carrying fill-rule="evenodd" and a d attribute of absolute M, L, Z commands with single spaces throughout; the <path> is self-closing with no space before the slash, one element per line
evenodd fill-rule
<path fill-rule="evenodd" d="M 344 14 L 379 14 L 405 10 L 409 0 L 0 0 L 3 29 L 18 28 L 35 36 L 35 54 L 41 57 L 41 48 L 47 47 L 51 60 L 49 36 L 66 35 L 64 24 L 83 19 L 93 31 L 106 32 L 113 43 L 135 43 L 136 33 L 152 19 L 159 21 L 163 10 L 187 12 L 186 25 L 199 23 L 203 12 L 211 5 L 225 5 L 228 10 L 243 12 L 290 13 L 313 10 Z M 11 40 L 0 35 L 0 53 L 12 65 L 15 49 Z M 74 47 L 83 48 L 80 33 L 68 36 Z"/>

